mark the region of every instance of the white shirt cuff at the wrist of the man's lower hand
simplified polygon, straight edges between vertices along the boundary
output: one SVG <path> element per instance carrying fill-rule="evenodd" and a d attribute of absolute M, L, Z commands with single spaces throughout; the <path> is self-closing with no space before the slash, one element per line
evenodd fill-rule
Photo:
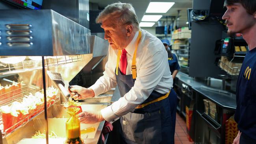
<path fill-rule="evenodd" d="M 119 119 L 119 116 L 115 115 L 115 113 L 112 111 L 111 105 L 100 110 L 100 113 L 102 117 L 110 124 Z"/>

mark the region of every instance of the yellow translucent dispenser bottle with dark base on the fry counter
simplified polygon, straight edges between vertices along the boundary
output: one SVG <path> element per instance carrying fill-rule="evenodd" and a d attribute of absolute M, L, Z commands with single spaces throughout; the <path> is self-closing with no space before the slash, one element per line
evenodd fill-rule
<path fill-rule="evenodd" d="M 76 118 L 76 113 L 80 109 L 78 107 L 69 107 L 66 110 L 71 116 L 66 122 L 66 144 L 83 144 L 80 132 L 80 121 Z"/>

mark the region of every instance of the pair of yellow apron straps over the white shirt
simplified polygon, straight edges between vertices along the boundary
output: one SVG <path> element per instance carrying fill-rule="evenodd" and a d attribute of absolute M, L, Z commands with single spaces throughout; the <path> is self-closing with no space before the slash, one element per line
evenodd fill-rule
<path fill-rule="evenodd" d="M 141 40 L 141 31 L 139 31 L 139 35 L 137 37 L 137 44 L 134 50 L 134 56 L 132 57 L 132 79 L 136 79 L 137 73 L 136 73 L 136 54 L 137 54 L 137 48 L 139 45 L 139 41 Z M 117 67 L 115 70 L 115 74 L 118 75 L 118 66 L 119 66 L 119 61 L 120 61 L 120 55 L 121 55 L 121 50 L 118 50 L 117 54 Z"/>

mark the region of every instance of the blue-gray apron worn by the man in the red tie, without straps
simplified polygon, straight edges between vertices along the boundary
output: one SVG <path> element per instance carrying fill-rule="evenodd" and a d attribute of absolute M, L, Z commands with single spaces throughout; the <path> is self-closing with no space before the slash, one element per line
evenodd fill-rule
<path fill-rule="evenodd" d="M 134 86 L 135 79 L 130 75 L 122 75 L 118 68 L 116 75 L 117 84 L 121 97 L 124 96 Z M 156 98 L 164 96 L 153 90 L 147 100 L 150 102 Z M 133 109 L 129 113 L 121 116 L 121 135 L 126 144 L 174 144 L 175 117 L 172 118 L 169 97 L 176 100 L 176 93 L 172 89 L 168 98 L 151 103 L 140 109 Z M 176 100 L 177 101 L 177 100 Z M 174 111 L 174 109 L 172 110 Z M 174 119 L 174 123 L 173 123 Z"/>

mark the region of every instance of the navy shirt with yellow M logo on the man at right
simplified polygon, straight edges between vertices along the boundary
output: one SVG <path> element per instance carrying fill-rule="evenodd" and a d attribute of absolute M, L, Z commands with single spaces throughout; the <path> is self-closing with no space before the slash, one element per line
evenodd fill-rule
<path fill-rule="evenodd" d="M 256 48 L 243 60 L 236 85 L 236 103 L 238 129 L 256 140 Z"/>

